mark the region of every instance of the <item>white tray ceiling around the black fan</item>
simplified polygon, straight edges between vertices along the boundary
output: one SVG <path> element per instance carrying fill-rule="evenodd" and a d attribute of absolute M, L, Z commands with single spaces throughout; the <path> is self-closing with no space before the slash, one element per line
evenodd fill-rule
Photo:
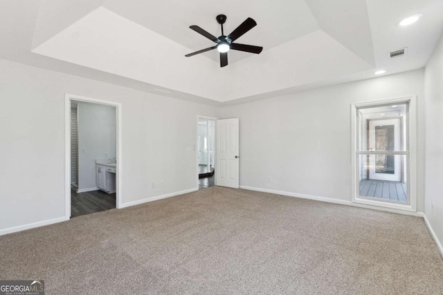
<path fill-rule="evenodd" d="M 0 0 L 0 58 L 210 104 L 248 102 L 421 68 L 443 30 L 441 0 Z M 395 24 L 422 13 L 408 27 Z M 221 35 L 247 17 L 237 42 L 260 55 L 217 50 L 190 30 Z M 388 59 L 388 52 L 408 54 Z"/>

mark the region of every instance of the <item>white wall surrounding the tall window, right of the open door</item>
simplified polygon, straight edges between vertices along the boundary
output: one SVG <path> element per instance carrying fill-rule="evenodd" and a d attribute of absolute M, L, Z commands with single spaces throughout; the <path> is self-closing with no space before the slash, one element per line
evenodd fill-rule
<path fill-rule="evenodd" d="M 423 211 L 423 79 L 420 69 L 221 108 L 219 117 L 239 117 L 240 185 L 351 201 L 350 104 L 417 95 L 417 209 Z"/>

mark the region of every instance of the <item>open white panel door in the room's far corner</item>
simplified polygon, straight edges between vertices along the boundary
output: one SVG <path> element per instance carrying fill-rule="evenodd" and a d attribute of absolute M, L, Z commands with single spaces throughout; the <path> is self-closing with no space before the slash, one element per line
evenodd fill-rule
<path fill-rule="evenodd" d="M 217 120 L 215 184 L 239 188 L 239 120 Z"/>

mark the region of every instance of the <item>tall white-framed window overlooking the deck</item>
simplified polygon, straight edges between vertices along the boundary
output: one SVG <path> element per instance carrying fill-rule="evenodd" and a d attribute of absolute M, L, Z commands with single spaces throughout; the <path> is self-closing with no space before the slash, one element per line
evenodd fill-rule
<path fill-rule="evenodd" d="M 415 184 L 410 184 L 411 101 L 354 106 L 354 202 L 396 209 L 415 206 Z M 413 113 L 412 117 L 415 122 Z"/>

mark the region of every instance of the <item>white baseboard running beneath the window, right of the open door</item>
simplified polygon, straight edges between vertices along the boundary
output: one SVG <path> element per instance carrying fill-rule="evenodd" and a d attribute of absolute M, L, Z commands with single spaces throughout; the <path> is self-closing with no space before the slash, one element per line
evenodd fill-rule
<path fill-rule="evenodd" d="M 310 196 L 310 195 L 304 195 L 302 193 L 290 193 L 288 191 L 275 191 L 273 189 L 261 189 L 258 187 L 246 187 L 244 185 L 240 185 L 240 189 L 248 189 L 249 191 L 261 191 L 263 193 L 275 193 L 276 195 L 309 199 L 309 200 L 316 200 L 316 201 L 320 201 L 320 202 L 328 202 L 328 203 L 334 203 L 334 204 L 343 204 L 343 205 L 352 206 L 352 207 L 360 207 L 360 208 L 365 208 L 365 209 L 373 209 L 373 210 L 378 210 L 378 211 L 399 213 L 399 214 L 410 215 L 410 216 L 417 216 L 417 217 L 424 216 L 424 214 L 422 212 L 403 211 L 403 210 L 399 210 L 399 209 L 390 209 L 390 208 L 377 207 L 377 206 L 371 206 L 371 205 L 366 205 L 366 204 L 357 204 L 357 203 L 354 203 L 351 201 L 337 200 L 337 199 L 318 197 L 318 196 Z"/>

